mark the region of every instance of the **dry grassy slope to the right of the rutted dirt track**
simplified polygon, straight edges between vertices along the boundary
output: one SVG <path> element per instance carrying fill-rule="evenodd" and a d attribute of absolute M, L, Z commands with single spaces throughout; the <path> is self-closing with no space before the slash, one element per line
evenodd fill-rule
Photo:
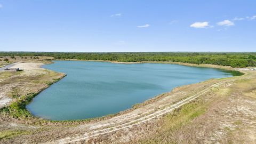
<path fill-rule="evenodd" d="M 175 110 L 158 122 L 157 130 L 131 143 L 254 143 L 256 116 L 236 110 L 250 107 L 255 113 L 256 108 L 250 102 L 256 103 L 256 76 L 250 76 L 253 78 L 243 76 L 234 85 L 215 89 L 210 95 Z M 215 134 L 216 131 L 221 134 Z"/>

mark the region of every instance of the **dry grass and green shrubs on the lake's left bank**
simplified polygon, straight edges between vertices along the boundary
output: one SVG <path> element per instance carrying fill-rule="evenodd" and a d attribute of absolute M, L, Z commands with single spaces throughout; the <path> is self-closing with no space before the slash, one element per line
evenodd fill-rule
<path fill-rule="evenodd" d="M 8 81 L 3 81 L 0 84 L 1 89 L 6 91 L 7 95 L 13 99 L 10 106 L 1 109 L 0 115 L 3 121 L 15 123 L 38 123 L 40 121 L 39 118 L 33 118 L 29 111 L 27 111 L 26 104 L 35 97 L 36 93 L 59 81 L 65 75 L 51 70 L 38 71 L 40 75 L 27 76 L 23 75 L 23 72 L 21 75 L 10 78 Z M 29 119 L 27 119 L 28 117 Z"/>

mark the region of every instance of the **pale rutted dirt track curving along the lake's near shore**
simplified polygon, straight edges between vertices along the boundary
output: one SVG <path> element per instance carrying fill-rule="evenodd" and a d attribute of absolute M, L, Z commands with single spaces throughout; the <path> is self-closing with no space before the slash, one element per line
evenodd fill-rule
<path fill-rule="evenodd" d="M 134 111 L 131 111 L 129 114 L 124 114 L 121 116 L 113 117 L 111 119 L 108 119 L 106 121 L 101 121 L 98 123 L 94 124 L 85 124 L 82 126 L 78 126 L 74 129 L 76 130 L 84 130 L 84 134 L 77 135 L 76 137 L 68 137 L 68 138 L 63 138 L 59 139 L 56 141 L 51 141 L 51 142 L 45 142 L 45 143 L 70 143 L 70 142 L 78 142 L 78 141 L 86 141 L 90 138 L 97 137 L 99 135 L 107 134 L 107 133 L 112 133 L 115 131 L 131 128 L 132 126 L 139 125 L 142 123 L 146 123 L 148 121 L 151 121 L 153 119 L 157 119 L 163 115 L 166 115 L 167 113 L 170 113 L 176 108 L 181 107 L 182 105 L 185 105 L 186 103 L 189 103 L 196 98 L 200 97 L 201 95 L 205 94 L 206 92 L 210 91 L 213 87 L 220 86 L 221 84 L 225 84 L 228 82 L 234 81 L 233 79 L 225 80 L 222 82 L 215 83 L 206 89 L 197 92 L 196 94 L 183 99 L 177 103 L 171 104 L 166 103 L 166 105 L 158 105 L 159 103 L 162 103 L 163 101 L 167 99 L 170 99 L 171 97 L 166 97 L 164 99 L 161 99 L 157 102 L 154 102 L 153 104 L 150 105 L 149 107 L 143 107 L 143 109 L 139 109 L 140 111 L 147 111 L 146 114 L 138 116 L 137 109 Z M 152 106 L 154 105 L 154 106 Z M 158 106 L 158 110 L 156 109 L 156 106 Z"/>

